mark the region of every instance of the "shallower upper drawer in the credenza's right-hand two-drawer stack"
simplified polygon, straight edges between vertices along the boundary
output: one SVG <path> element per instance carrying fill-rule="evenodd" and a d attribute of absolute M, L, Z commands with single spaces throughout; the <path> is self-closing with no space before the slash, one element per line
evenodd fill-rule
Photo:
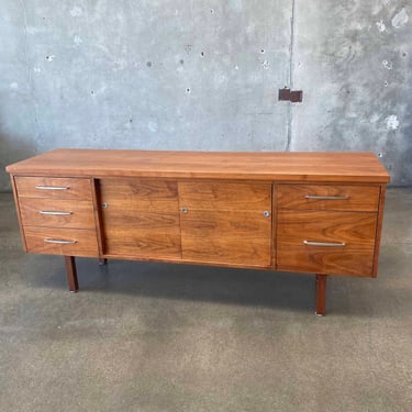
<path fill-rule="evenodd" d="M 377 212 L 380 188 L 350 185 L 278 185 L 279 209 Z"/>

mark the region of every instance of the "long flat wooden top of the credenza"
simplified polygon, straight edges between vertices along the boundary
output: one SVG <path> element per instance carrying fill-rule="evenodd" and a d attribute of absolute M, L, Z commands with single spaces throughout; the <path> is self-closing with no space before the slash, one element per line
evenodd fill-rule
<path fill-rule="evenodd" d="M 372 153 L 55 149 L 7 167 L 14 175 L 164 177 L 270 181 L 390 180 Z"/>

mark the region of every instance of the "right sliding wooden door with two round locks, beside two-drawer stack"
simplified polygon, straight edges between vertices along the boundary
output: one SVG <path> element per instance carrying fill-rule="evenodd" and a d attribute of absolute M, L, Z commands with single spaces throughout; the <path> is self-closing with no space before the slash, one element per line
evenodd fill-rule
<path fill-rule="evenodd" d="M 179 182 L 182 257 L 271 266 L 271 185 Z"/>

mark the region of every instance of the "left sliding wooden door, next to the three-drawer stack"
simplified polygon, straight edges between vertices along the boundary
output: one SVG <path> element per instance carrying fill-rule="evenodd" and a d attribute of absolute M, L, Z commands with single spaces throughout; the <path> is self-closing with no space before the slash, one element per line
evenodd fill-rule
<path fill-rule="evenodd" d="M 100 180 L 105 255 L 180 259 L 177 182 Z"/>

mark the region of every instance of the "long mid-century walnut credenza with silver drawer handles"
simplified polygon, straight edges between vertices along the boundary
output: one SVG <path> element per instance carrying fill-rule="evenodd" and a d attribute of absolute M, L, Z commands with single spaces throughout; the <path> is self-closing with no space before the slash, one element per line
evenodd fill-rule
<path fill-rule="evenodd" d="M 25 252 L 376 277 L 390 179 L 371 153 L 56 149 L 7 167 Z"/>

